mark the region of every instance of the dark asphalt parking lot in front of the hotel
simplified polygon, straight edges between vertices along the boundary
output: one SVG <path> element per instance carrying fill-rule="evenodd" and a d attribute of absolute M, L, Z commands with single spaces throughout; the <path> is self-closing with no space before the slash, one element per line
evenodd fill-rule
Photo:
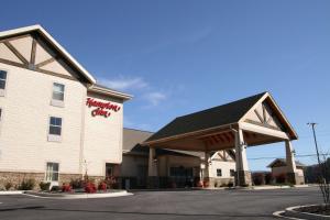
<path fill-rule="evenodd" d="M 321 202 L 317 187 L 274 190 L 141 191 L 99 199 L 0 196 L 0 219 L 275 219 L 289 206 Z"/>

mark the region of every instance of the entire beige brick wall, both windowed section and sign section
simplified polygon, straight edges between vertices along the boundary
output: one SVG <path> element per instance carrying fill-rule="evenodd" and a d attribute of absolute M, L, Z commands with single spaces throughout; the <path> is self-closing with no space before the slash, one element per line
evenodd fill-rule
<path fill-rule="evenodd" d="M 107 119 L 91 117 L 81 82 L 2 63 L 0 69 L 8 70 L 0 97 L 0 172 L 44 174 L 46 163 L 55 162 L 61 175 L 79 175 L 86 160 L 90 176 L 105 176 L 106 163 L 121 163 L 122 101 L 88 94 L 121 107 Z M 64 108 L 51 106 L 53 82 L 65 85 Z M 63 118 L 61 142 L 47 141 L 51 116 Z"/>

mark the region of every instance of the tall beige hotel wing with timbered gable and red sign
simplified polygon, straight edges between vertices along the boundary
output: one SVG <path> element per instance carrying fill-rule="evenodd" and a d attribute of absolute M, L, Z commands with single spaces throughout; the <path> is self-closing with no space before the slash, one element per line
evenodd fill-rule
<path fill-rule="evenodd" d="M 97 85 L 42 26 L 0 32 L 0 187 L 113 173 L 129 99 Z"/>

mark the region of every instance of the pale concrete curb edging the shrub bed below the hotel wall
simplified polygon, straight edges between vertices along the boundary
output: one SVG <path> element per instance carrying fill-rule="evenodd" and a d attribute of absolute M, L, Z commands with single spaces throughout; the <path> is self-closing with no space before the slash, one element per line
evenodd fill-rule
<path fill-rule="evenodd" d="M 113 191 L 113 193 L 102 193 L 102 194 L 47 194 L 47 193 L 35 193 L 35 191 L 25 191 L 23 195 L 31 196 L 35 198 L 44 199 L 91 199 L 91 198 L 111 198 L 111 197 L 123 197 L 123 196 L 133 196 L 133 194 L 128 193 L 127 190 Z"/>

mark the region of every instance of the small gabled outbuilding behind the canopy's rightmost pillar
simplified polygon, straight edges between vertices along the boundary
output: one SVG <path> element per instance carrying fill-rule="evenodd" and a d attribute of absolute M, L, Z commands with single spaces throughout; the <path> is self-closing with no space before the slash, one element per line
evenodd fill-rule
<path fill-rule="evenodd" d="M 295 163 L 296 163 L 296 175 L 297 175 L 296 178 L 298 179 L 297 184 L 305 184 L 304 167 L 306 165 L 297 161 Z M 288 167 L 284 158 L 276 158 L 267 167 L 272 168 L 272 174 L 275 177 L 279 175 L 286 175 L 288 173 Z"/>

